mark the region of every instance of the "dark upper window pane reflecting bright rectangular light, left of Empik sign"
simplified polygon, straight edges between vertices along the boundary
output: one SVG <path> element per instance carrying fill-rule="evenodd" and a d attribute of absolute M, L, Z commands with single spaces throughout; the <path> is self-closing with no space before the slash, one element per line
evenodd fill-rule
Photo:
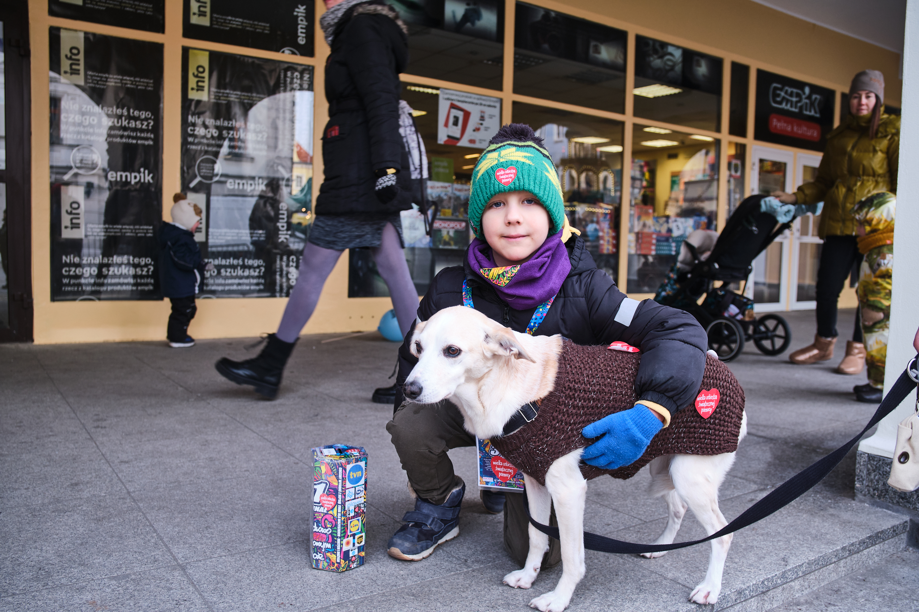
<path fill-rule="evenodd" d="M 720 58 L 635 37 L 635 117 L 720 131 Z"/>

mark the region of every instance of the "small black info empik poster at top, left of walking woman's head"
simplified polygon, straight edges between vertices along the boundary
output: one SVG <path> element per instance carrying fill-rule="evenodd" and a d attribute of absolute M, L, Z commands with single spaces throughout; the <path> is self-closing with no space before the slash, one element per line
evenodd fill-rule
<path fill-rule="evenodd" d="M 314 0 L 182 0 L 182 36 L 312 57 Z"/>

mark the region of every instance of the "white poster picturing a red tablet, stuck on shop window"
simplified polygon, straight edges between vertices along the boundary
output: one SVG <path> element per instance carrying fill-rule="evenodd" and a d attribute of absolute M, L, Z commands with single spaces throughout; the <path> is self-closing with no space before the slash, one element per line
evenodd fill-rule
<path fill-rule="evenodd" d="M 441 89 L 437 144 L 484 149 L 501 128 L 501 98 Z"/>

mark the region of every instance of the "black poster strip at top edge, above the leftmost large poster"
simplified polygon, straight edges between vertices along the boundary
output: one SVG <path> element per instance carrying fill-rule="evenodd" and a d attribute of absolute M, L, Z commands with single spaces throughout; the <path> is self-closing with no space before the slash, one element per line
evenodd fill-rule
<path fill-rule="evenodd" d="M 165 31 L 165 0 L 48 0 L 48 14 L 119 28 Z"/>

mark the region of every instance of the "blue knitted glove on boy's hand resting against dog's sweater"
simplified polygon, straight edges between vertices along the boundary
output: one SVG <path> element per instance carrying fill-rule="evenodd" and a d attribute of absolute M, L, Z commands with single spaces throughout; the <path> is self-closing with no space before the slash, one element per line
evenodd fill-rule
<path fill-rule="evenodd" d="M 604 470 L 615 470 L 638 460 L 651 439 L 664 428 L 651 408 L 639 404 L 603 417 L 582 431 L 584 438 L 600 438 L 584 449 L 581 458 Z"/>

